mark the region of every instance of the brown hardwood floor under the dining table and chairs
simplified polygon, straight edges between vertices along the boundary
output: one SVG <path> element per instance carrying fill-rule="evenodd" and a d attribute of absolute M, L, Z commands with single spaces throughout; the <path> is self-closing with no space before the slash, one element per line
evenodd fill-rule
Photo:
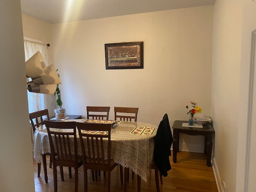
<path fill-rule="evenodd" d="M 212 167 L 206 166 L 206 155 L 200 153 L 179 152 L 177 163 L 172 162 L 172 169 L 168 171 L 168 176 L 163 177 L 163 185 L 160 184 L 161 192 L 218 192 Z M 42 165 L 41 165 L 42 166 Z M 53 192 L 53 171 L 49 168 L 49 158 L 47 157 L 48 183 L 44 181 L 44 170 L 41 167 L 41 176 L 37 176 L 37 163 L 34 161 L 34 181 L 36 192 Z M 68 176 L 68 168 L 64 169 L 64 181 L 60 179 L 58 168 L 58 192 L 74 191 L 74 169 L 72 178 Z M 83 167 L 79 168 L 78 173 L 78 192 L 84 191 Z M 127 192 L 137 192 L 137 180 L 131 179 L 127 185 Z M 136 177 L 134 177 L 136 178 Z M 88 170 L 88 192 L 106 192 L 107 176 L 103 173 L 98 182 L 92 181 L 91 172 Z M 111 192 L 123 192 L 124 188 L 120 184 L 119 166 L 111 172 Z M 154 170 L 152 170 L 148 182 L 141 182 L 141 192 L 156 192 Z"/>

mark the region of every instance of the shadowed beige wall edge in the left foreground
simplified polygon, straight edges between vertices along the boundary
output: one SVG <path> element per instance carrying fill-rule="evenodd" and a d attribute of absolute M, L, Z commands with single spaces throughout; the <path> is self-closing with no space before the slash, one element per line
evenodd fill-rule
<path fill-rule="evenodd" d="M 0 191 L 34 192 L 20 1 L 0 2 Z"/>

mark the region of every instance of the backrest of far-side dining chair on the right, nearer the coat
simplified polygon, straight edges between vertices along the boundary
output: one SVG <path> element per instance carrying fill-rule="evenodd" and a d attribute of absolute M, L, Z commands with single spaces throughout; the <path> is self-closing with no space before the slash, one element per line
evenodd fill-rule
<path fill-rule="evenodd" d="M 134 107 L 114 107 L 115 120 L 132 121 L 132 119 L 134 119 L 134 121 L 136 122 L 138 110 L 139 108 Z"/>

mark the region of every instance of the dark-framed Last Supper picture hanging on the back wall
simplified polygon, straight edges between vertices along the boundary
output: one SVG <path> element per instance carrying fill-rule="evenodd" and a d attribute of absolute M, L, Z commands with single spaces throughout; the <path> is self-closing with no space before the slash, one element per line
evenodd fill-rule
<path fill-rule="evenodd" d="M 143 69 L 143 41 L 105 44 L 106 69 Z"/>

